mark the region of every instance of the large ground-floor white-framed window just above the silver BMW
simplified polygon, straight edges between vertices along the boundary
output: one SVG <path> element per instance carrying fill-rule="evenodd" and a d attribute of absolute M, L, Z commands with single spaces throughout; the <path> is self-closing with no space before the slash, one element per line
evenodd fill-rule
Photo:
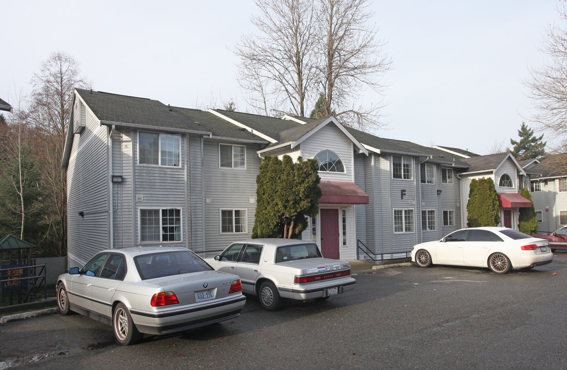
<path fill-rule="evenodd" d="M 181 241 L 181 209 L 139 209 L 139 241 Z"/>

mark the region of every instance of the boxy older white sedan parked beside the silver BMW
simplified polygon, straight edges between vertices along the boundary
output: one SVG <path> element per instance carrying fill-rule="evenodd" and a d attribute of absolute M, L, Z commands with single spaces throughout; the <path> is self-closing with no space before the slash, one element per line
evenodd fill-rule
<path fill-rule="evenodd" d="M 205 261 L 219 271 L 239 275 L 242 291 L 257 295 L 268 311 L 280 308 L 282 298 L 328 299 L 356 284 L 350 263 L 323 258 L 317 244 L 302 240 L 238 241 Z"/>

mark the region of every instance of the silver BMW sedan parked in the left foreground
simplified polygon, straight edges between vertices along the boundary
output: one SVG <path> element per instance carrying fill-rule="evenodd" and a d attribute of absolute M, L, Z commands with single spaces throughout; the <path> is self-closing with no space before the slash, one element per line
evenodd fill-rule
<path fill-rule="evenodd" d="M 180 247 L 104 250 L 57 281 L 59 311 L 112 325 L 121 345 L 230 320 L 245 303 L 238 276 Z"/>

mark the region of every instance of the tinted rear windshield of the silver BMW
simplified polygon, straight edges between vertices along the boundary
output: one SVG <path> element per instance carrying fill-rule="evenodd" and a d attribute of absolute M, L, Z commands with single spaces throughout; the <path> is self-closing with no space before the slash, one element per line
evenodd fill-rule
<path fill-rule="evenodd" d="M 143 254 L 134 257 L 134 262 L 142 280 L 213 270 L 196 254 L 184 250 Z"/>

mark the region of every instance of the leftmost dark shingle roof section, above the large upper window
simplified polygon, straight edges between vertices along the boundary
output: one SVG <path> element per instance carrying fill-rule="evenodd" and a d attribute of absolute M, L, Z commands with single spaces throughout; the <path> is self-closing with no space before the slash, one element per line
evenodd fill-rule
<path fill-rule="evenodd" d="M 101 121 L 176 131 L 205 131 L 183 114 L 170 111 L 158 100 L 82 89 L 77 89 L 77 92 Z"/>

